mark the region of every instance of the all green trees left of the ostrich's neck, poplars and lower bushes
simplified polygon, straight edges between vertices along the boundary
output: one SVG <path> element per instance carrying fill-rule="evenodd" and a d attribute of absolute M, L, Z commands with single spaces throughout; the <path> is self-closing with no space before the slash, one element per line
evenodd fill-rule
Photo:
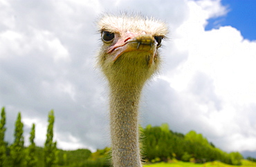
<path fill-rule="evenodd" d="M 4 141 L 6 132 L 6 111 L 1 109 L 0 120 L 0 167 L 52 167 L 52 166 L 111 166 L 109 161 L 110 148 L 91 153 L 88 149 L 62 150 L 57 148 L 57 141 L 53 141 L 54 111 L 48 113 L 48 127 L 44 147 L 35 145 L 35 124 L 30 130 L 28 147 L 24 146 L 21 112 L 15 121 L 14 141 L 12 144 Z"/>

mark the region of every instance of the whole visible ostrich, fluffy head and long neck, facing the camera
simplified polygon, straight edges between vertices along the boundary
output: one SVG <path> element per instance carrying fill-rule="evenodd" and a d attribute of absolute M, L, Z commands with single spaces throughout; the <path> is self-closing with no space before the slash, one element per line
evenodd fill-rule
<path fill-rule="evenodd" d="M 167 35 L 162 21 L 136 14 L 105 14 L 98 21 L 98 65 L 109 81 L 113 166 L 142 166 L 138 104 L 145 82 L 158 70 L 158 48 Z"/>

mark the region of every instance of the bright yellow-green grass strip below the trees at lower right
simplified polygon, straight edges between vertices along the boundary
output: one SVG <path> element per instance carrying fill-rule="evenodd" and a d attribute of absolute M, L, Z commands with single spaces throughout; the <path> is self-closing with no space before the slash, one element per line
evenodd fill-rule
<path fill-rule="evenodd" d="M 183 161 L 176 161 L 173 163 L 158 163 L 158 164 L 147 164 L 144 167 L 183 167 L 183 166 L 188 166 L 188 167 L 210 167 L 210 166 L 218 166 L 218 167 L 236 167 L 228 164 L 223 164 L 219 161 L 212 161 L 212 162 L 207 162 L 205 164 L 194 164 L 190 162 L 183 162 Z M 249 166 L 256 166 L 255 162 L 248 161 L 248 160 L 242 160 L 242 165 L 237 166 L 237 167 L 249 167 Z"/>

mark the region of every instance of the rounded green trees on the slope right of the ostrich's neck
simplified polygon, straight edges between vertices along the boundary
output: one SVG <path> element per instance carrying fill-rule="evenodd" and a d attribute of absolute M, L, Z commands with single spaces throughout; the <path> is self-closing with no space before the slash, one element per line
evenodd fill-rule
<path fill-rule="evenodd" d="M 222 161 L 226 164 L 241 165 L 243 156 L 238 152 L 226 153 L 195 131 L 186 135 L 172 132 L 167 124 L 152 127 L 148 125 L 143 131 L 143 150 L 146 161 L 169 161 L 178 159 L 205 163 Z"/>

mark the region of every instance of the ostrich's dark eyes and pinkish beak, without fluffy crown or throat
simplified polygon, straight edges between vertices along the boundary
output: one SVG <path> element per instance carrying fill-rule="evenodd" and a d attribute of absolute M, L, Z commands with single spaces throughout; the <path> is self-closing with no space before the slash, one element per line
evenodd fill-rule
<path fill-rule="evenodd" d="M 109 45 L 106 51 L 113 61 L 116 61 L 125 52 L 131 52 L 133 55 L 143 53 L 143 55 L 147 55 L 146 63 L 148 66 L 152 66 L 152 63 L 157 61 L 156 49 L 161 46 L 162 39 L 162 36 L 153 37 L 147 35 L 146 32 L 137 34 L 128 30 L 120 35 L 119 33 L 102 30 L 102 41 L 105 45 Z"/>

